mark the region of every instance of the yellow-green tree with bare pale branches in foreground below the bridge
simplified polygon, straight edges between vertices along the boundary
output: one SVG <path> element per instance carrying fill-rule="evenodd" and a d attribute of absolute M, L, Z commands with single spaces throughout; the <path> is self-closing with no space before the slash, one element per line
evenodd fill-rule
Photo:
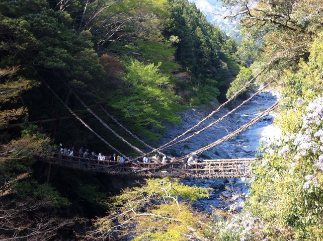
<path fill-rule="evenodd" d="M 207 196 L 205 188 L 186 186 L 169 178 L 146 180 L 145 185 L 128 188 L 113 197 L 114 211 L 122 214 L 101 218 L 95 226 L 98 235 L 114 233 L 119 239 L 124 238 L 125 233 L 119 232 L 116 222 L 123 223 L 122 230 L 130 232 L 138 241 L 184 241 L 187 235 L 209 238 L 213 233 L 210 222 L 186 204 Z"/>

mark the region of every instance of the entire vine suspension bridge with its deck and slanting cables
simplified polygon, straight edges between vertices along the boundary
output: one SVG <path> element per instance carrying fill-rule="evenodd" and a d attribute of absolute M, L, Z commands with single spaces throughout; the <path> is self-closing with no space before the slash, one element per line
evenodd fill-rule
<path fill-rule="evenodd" d="M 122 142 L 124 142 L 126 145 L 128 145 L 130 148 L 132 148 L 134 151 L 136 151 L 140 156 L 136 157 L 134 159 L 126 157 L 126 155 L 122 154 L 120 151 L 118 151 L 116 148 L 114 148 L 110 143 L 108 143 L 103 137 L 101 137 L 99 134 L 97 134 L 91 127 L 89 127 L 67 104 L 57 95 L 57 93 L 47 84 L 46 81 L 43 80 L 44 84 L 49 88 L 49 90 L 55 95 L 55 97 L 67 108 L 67 110 L 75 117 L 77 118 L 82 125 L 84 125 L 90 132 L 92 132 L 96 137 L 98 137 L 103 143 L 105 143 L 110 149 L 113 151 L 119 153 L 121 156 L 125 157 L 126 161 L 124 162 L 115 162 L 115 161 L 100 161 L 100 160 L 93 160 L 93 159 L 87 159 L 87 158 L 78 158 L 78 157 L 68 157 L 68 156 L 53 156 L 50 158 L 40 158 L 40 161 L 46 161 L 51 164 L 57 164 L 61 166 L 71 167 L 75 169 L 81 169 L 84 171 L 94 171 L 94 172 L 104 172 L 104 173 L 110 173 L 110 174 L 118 174 L 118 175 L 138 175 L 138 176 L 150 176 L 150 177 L 162 177 L 162 176 L 194 176 L 197 178 L 221 178 L 221 177 L 250 177 L 252 174 L 251 171 L 251 165 L 255 161 L 261 161 L 261 158 L 247 158 L 247 159 L 217 159 L 217 160 L 204 160 L 203 162 L 197 162 L 197 163 L 189 163 L 188 165 L 184 165 L 183 161 L 189 157 L 192 157 L 194 155 L 198 155 L 202 152 L 208 151 L 212 148 L 214 148 L 217 145 L 220 145 L 221 143 L 231 139 L 232 137 L 236 136 L 237 134 L 241 133 L 242 131 L 246 130 L 248 127 L 254 125 L 257 121 L 259 121 L 261 118 L 269 114 L 272 110 L 274 110 L 278 105 L 279 101 L 270 106 L 268 109 L 261 112 L 259 115 L 254 117 L 252 120 L 250 120 L 248 123 L 242 125 L 235 131 L 231 132 L 230 134 L 222 137 L 219 140 L 216 140 L 215 142 L 202 147 L 199 150 L 196 150 L 194 152 L 191 152 L 183 157 L 176 158 L 172 162 L 168 163 L 143 163 L 139 160 L 142 160 L 145 156 L 148 156 L 153 153 L 159 153 L 161 155 L 166 156 L 161 151 L 163 149 L 169 148 L 171 146 L 177 145 L 179 143 L 185 142 L 188 139 L 200 134 L 201 132 L 205 131 L 206 129 L 210 128 L 211 126 L 219 123 L 221 120 L 225 119 L 227 116 L 235 112 L 237 109 L 239 109 L 242 105 L 244 105 L 246 102 L 250 101 L 254 96 L 258 95 L 260 92 L 262 92 L 265 88 L 268 87 L 273 81 L 274 78 L 270 81 L 268 81 L 266 84 L 264 84 L 262 87 L 260 87 L 254 94 L 252 94 L 248 99 L 244 100 L 240 105 L 238 105 L 233 110 L 226 113 L 221 118 L 217 119 L 216 121 L 210 123 L 208 126 L 203 127 L 202 129 L 195 131 L 193 134 L 191 134 L 188 137 L 185 137 L 180 140 L 180 138 L 184 137 L 185 135 L 193 132 L 196 128 L 200 127 L 203 122 L 205 122 L 207 119 L 209 119 L 211 116 L 213 116 L 215 113 L 217 113 L 223 106 L 228 104 L 230 101 L 234 100 L 239 94 L 241 94 L 254 80 L 256 80 L 265 70 L 268 70 L 272 65 L 277 62 L 280 58 L 275 57 L 273 58 L 269 63 L 267 63 L 261 71 L 255 75 L 254 78 L 247 81 L 245 85 L 237 91 L 231 98 L 229 98 L 226 102 L 221 104 L 216 110 L 212 111 L 208 116 L 206 116 L 204 119 L 202 119 L 200 122 L 198 122 L 193 127 L 186 130 L 184 133 L 180 134 L 173 140 L 167 142 L 166 144 L 163 144 L 159 148 L 153 148 L 144 141 L 142 141 L 138 136 L 134 135 L 132 132 L 130 132 L 126 127 L 124 127 L 121 123 L 119 123 L 113 116 L 111 116 L 97 101 L 96 104 L 99 105 L 99 107 L 103 110 L 103 112 L 111 118 L 112 121 L 114 121 L 119 127 L 124 129 L 132 138 L 139 141 L 141 144 L 143 144 L 145 147 L 149 148 L 150 152 L 145 153 L 144 151 L 140 150 L 139 148 L 133 146 L 131 143 L 129 143 L 127 140 L 125 140 L 123 137 L 121 137 L 119 134 L 117 134 L 111 127 L 109 127 L 93 110 L 91 110 L 82 100 L 81 98 L 76 94 L 74 90 L 71 89 L 71 87 L 67 84 L 66 86 L 72 91 L 74 96 L 80 101 L 81 105 L 93 116 L 95 117 L 106 129 L 108 129 L 114 136 L 119 138 Z M 167 157 L 167 156 L 166 156 Z M 167 157 L 170 158 L 170 157 Z"/>

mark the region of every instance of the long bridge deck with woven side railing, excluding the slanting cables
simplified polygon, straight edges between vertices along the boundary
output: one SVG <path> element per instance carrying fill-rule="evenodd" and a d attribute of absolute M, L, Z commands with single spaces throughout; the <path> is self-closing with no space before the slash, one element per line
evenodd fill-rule
<path fill-rule="evenodd" d="M 260 160 L 260 158 L 204 160 L 203 162 L 192 163 L 191 165 L 187 164 L 187 168 L 185 168 L 182 162 L 168 162 L 165 164 L 143 162 L 121 163 L 67 156 L 40 159 L 40 161 L 69 168 L 114 175 L 144 177 L 190 176 L 196 178 L 250 177 L 252 174 L 252 162 Z"/>

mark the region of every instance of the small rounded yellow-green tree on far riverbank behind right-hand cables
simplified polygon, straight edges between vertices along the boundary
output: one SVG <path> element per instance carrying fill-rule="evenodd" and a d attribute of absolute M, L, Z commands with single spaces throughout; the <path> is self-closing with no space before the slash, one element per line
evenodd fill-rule
<path fill-rule="evenodd" d="M 230 88 L 227 91 L 227 98 L 231 98 L 237 91 L 239 91 L 247 81 L 253 78 L 252 71 L 248 68 L 241 67 L 241 70 L 237 76 L 237 78 L 231 82 Z M 242 93 L 247 93 L 254 88 L 253 84 L 248 85 Z"/>

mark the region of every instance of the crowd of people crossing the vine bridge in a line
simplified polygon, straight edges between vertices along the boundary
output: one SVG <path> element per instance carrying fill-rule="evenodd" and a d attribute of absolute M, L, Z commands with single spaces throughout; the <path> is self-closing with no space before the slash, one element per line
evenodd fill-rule
<path fill-rule="evenodd" d="M 85 149 L 81 147 L 79 149 L 78 153 L 75 153 L 74 147 L 71 149 L 64 148 L 62 144 L 58 147 L 58 157 L 61 159 L 63 157 L 77 157 L 82 159 L 92 159 L 92 160 L 98 160 L 98 161 L 116 161 L 116 162 L 125 162 L 127 159 L 126 157 L 123 157 L 121 155 L 116 155 L 115 153 L 113 155 L 105 156 L 101 153 L 96 154 L 94 151 L 90 152 L 88 149 Z M 129 160 L 133 160 L 132 156 L 128 157 Z M 173 163 L 176 161 L 175 157 L 167 158 L 165 155 L 162 156 L 162 158 L 156 154 L 153 157 L 150 157 L 149 155 L 146 155 L 142 159 L 136 159 L 136 162 L 143 162 L 143 163 L 158 163 L 158 164 L 165 164 L 167 162 Z M 185 158 L 183 160 L 183 167 L 186 169 L 187 166 L 191 166 L 193 163 L 200 162 L 200 157 L 193 157 L 190 156 L 189 158 Z M 173 165 L 171 165 L 173 167 Z"/>

